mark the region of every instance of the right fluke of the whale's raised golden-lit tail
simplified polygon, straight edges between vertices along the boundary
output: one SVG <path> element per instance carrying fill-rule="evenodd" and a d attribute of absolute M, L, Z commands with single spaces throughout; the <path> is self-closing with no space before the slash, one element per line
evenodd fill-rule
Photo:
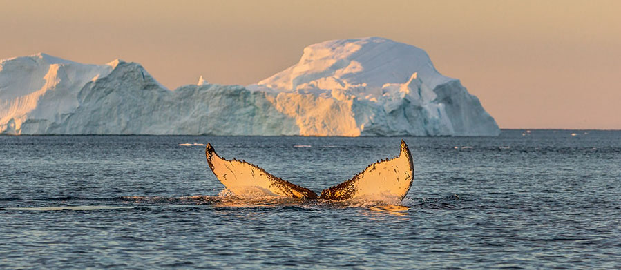
<path fill-rule="evenodd" d="M 394 196 L 403 200 L 412 187 L 413 178 L 412 154 L 405 141 L 401 140 L 399 156 L 369 165 L 352 179 L 321 191 L 319 198 L 348 200 L 365 196 Z"/>

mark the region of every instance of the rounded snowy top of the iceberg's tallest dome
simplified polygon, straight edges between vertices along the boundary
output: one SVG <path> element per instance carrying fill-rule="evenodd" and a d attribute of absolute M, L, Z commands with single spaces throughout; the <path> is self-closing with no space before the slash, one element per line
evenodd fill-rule
<path fill-rule="evenodd" d="M 430 87 L 453 80 L 437 72 L 421 48 L 365 37 L 309 45 L 298 63 L 257 84 L 284 92 L 365 88 L 361 96 L 366 96 L 386 83 L 406 83 L 414 73 Z"/>

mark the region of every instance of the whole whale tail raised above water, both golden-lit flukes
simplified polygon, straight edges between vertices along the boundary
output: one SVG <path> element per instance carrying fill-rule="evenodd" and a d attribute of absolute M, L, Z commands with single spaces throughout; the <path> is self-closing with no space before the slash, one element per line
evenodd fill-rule
<path fill-rule="evenodd" d="M 238 196 L 258 193 L 300 199 L 352 200 L 380 197 L 403 200 L 414 180 L 412 153 L 403 140 L 399 156 L 378 160 L 349 180 L 324 189 L 319 196 L 311 189 L 269 174 L 265 169 L 245 160 L 222 158 L 211 143 L 205 147 L 205 156 L 209 169 L 220 183 Z"/>

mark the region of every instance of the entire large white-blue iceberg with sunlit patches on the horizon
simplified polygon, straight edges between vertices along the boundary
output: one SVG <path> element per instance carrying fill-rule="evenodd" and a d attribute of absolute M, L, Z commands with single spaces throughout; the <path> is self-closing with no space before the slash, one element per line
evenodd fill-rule
<path fill-rule="evenodd" d="M 494 119 L 412 45 L 370 37 L 304 49 L 247 87 L 168 90 L 142 65 L 47 54 L 0 61 L 2 134 L 493 136 Z"/>

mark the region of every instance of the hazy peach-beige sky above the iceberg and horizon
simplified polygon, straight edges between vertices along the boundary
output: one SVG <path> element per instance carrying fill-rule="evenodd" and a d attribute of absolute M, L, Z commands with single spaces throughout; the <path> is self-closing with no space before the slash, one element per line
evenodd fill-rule
<path fill-rule="evenodd" d="M 500 127 L 621 129 L 621 1 L 0 0 L 0 59 L 120 58 L 171 89 L 256 83 L 368 36 L 426 50 Z"/>

